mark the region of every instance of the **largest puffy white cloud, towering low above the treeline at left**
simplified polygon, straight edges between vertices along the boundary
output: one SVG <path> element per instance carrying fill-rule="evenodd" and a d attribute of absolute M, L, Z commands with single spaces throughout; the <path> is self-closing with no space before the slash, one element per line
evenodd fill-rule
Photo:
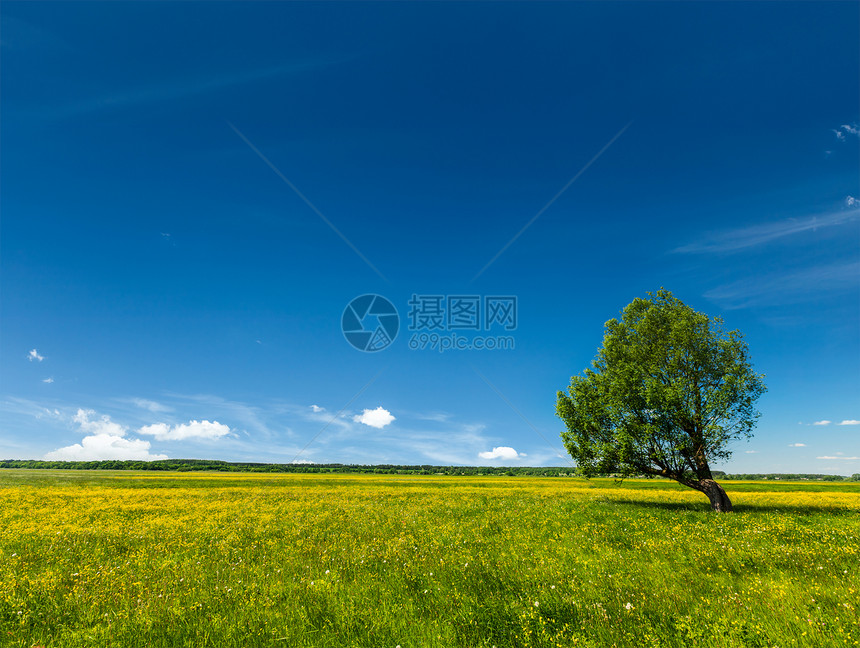
<path fill-rule="evenodd" d="M 167 459 L 167 455 L 150 454 L 149 441 L 126 439 L 124 428 L 119 423 L 110 420 L 107 415 L 96 420 L 93 410 L 79 409 L 72 419 L 82 432 L 88 432 L 80 443 L 59 448 L 45 455 L 48 461 L 98 461 L 102 459 L 134 459 L 138 461 L 154 461 Z"/>

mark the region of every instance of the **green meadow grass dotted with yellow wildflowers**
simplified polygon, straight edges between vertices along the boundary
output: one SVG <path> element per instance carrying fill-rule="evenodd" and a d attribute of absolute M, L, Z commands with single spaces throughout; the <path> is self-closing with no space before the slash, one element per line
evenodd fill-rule
<path fill-rule="evenodd" d="M 0 645 L 857 646 L 860 485 L 0 471 Z"/>

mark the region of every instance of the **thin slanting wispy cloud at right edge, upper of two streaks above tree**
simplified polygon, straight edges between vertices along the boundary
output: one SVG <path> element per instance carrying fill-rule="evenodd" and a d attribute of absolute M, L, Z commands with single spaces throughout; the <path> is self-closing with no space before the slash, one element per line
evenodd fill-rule
<path fill-rule="evenodd" d="M 852 202 L 846 199 L 846 205 L 852 207 Z M 702 241 L 688 243 L 675 248 L 673 252 L 692 253 L 730 253 L 745 250 L 758 245 L 765 245 L 788 236 L 802 234 L 803 232 L 814 232 L 828 227 L 837 227 L 851 223 L 860 217 L 860 209 L 849 209 L 833 211 L 826 214 L 810 216 L 801 219 L 789 219 L 776 223 L 765 223 L 742 227 L 739 229 L 719 232 L 708 236 Z"/>

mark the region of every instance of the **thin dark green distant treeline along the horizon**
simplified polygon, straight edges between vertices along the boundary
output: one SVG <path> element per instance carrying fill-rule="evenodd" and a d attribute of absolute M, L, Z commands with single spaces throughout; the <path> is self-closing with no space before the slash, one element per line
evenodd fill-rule
<path fill-rule="evenodd" d="M 163 459 L 161 461 L 37 461 L 29 459 L 6 459 L 0 468 L 35 468 L 51 470 L 160 470 L 172 472 L 254 472 L 254 473 L 348 473 L 370 475 L 527 475 L 533 477 L 574 477 L 576 468 L 570 466 L 400 466 L 381 464 L 363 466 L 358 464 L 274 464 L 217 461 L 214 459 Z M 713 471 L 716 479 L 722 480 L 815 480 L 815 481 L 860 481 L 860 474 L 851 477 L 842 475 L 819 475 L 811 473 L 755 473 L 727 474 Z M 615 477 L 615 475 L 604 475 Z"/>

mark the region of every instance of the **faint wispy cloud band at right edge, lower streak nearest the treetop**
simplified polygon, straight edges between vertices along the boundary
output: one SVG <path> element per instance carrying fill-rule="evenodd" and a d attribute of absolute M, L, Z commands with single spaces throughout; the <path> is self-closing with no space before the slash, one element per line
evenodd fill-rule
<path fill-rule="evenodd" d="M 742 279 L 705 292 L 707 299 L 728 310 L 749 306 L 792 304 L 808 300 L 824 291 L 838 291 L 860 285 L 860 261 L 839 262 L 807 268 L 799 272 L 771 274 Z"/>

